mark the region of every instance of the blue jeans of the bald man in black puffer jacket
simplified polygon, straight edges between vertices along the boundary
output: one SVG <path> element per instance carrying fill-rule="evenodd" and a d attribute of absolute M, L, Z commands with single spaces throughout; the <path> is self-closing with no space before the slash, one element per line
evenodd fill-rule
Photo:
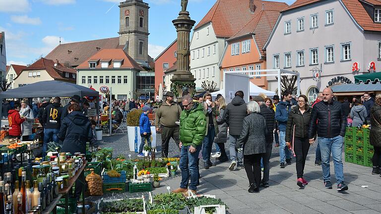
<path fill-rule="evenodd" d="M 336 136 L 333 138 L 318 137 L 321 152 L 321 168 L 323 170 L 323 180 L 329 181 L 331 174 L 329 171 L 329 159 L 333 158 L 333 165 L 335 167 L 335 177 L 337 184 L 344 181 L 343 175 L 343 162 L 341 160 L 341 153 L 343 151 L 343 137 Z"/>

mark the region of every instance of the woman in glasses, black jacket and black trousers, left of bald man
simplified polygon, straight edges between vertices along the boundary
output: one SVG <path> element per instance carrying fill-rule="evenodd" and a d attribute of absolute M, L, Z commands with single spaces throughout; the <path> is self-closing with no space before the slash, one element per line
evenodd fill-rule
<path fill-rule="evenodd" d="M 286 144 L 293 147 L 296 156 L 297 185 L 303 187 L 308 182 L 303 178 L 310 143 L 308 139 L 308 127 L 311 118 L 311 108 L 308 106 L 306 95 L 298 98 L 298 106 L 291 107 L 286 126 Z M 293 143 L 294 142 L 294 143 Z"/>

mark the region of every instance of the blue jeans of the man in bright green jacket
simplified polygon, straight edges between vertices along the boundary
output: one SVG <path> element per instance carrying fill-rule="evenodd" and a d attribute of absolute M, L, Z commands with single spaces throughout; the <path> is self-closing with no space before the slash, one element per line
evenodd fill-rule
<path fill-rule="evenodd" d="M 180 169 L 181 169 L 181 183 L 180 188 L 187 189 L 189 184 L 189 177 L 191 176 L 191 183 L 189 184 L 190 190 L 196 190 L 198 181 L 198 154 L 201 150 L 201 145 L 196 147 L 196 152 L 189 152 L 191 146 L 182 146 L 180 150 Z"/>

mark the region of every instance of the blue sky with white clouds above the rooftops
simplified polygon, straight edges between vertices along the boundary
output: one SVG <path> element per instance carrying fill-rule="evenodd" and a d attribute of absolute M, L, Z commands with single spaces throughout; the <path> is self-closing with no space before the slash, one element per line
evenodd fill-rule
<path fill-rule="evenodd" d="M 0 0 L 7 64 L 30 64 L 62 43 L 118 37 L 121 0 Z M 172 20 L 181 0 L 149 3 L 148 54 L 155 58 L 176 39 Z M 216 0 L 189 0 L 196 24 Z M 291 4 L 294 0 L 279 0 Z"/>

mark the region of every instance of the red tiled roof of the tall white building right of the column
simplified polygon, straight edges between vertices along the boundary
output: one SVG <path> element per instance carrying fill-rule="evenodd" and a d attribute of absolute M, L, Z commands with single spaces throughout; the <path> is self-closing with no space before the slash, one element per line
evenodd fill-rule
<path fill-rule="evenodd" d="M 250 20 L 262 10 L 281 11 L 288 5 L 284 2 L 253 0 L 254 12 L 250 10 L 251 0 L 217 0 L 209 12 L 194 28 L 212 22 L 217 37 L 230 38 L 241 30 Z"/>

